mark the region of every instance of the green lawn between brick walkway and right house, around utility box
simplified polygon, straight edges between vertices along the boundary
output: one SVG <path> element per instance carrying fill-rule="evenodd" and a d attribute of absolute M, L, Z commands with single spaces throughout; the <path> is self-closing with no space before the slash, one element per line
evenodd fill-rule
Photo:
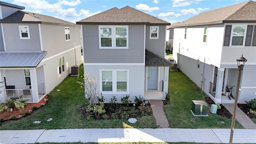
<path fill-rule="evenodd" d="M 168 118 L 170 128 L 230 128 L 231 119 L 223 118 L 217 114 L 210 113 L 209 116 L 193 116 L 190 110 L 192 109 L 192 100 L 204 100 L 207 95 L 201 93 L 200 88 L 192 82 L 181 71 L 169 72 L 169 87 L 168 92 L 171 94 L 170 104 L 164 105 L 164 112 Z M 198 120 L 198 123 L 192 120 Z M 218 120 L 222 120 L 224 124 L 218 124 Z M 236 121 L 235 128 L 243 128 Z"/>

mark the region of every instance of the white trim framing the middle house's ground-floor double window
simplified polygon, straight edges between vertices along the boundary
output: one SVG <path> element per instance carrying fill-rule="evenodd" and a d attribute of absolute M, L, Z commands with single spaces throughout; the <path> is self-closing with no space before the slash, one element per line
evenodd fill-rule
<path fill-rule="evenodd" d="M 110 91 L 102 91 L 102 71 L 112 71 L 112 92 Z M 126 92 L 118 92 L 116 88 L 117 78 L 116 71 L 127 71 L 127 91 Z M 100 69 L 100 92 L 102 94 L 130 94 L 129 93 L 129 69 Z"/>

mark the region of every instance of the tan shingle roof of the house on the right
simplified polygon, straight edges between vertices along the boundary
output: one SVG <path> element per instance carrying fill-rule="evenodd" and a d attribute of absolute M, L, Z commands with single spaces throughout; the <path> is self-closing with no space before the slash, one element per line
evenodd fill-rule
<path fill-rule="evenodd" d="M 193 26 L 219 24 L 226 22 L 256 22 L 256 2 L 247 1 L 208 12 L 203 12 L 192 18 L 173 24 L 173 26 Z"/>

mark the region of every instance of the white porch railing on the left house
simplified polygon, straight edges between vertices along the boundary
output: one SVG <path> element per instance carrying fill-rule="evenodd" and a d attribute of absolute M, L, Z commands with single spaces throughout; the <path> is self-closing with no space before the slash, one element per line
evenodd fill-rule
<path fill-rule="evenodd" d="M 16 98 L 16 100 L 28 100 L 28 102 L 32 102 L 32 92 L 31 89 L 6 89 L 6 97 L 7 100 L 11 100 Z"/>

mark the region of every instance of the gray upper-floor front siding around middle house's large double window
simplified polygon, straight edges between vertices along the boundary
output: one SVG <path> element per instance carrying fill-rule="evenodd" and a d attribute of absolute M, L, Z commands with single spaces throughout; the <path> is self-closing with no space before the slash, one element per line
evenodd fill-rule
<path fill-rule="evenodd" d="M 84 62 L 143 63 L 144 25 L 128 26 L 128 49 L 100 49 L 98 25 L 83 25 Z"/>

